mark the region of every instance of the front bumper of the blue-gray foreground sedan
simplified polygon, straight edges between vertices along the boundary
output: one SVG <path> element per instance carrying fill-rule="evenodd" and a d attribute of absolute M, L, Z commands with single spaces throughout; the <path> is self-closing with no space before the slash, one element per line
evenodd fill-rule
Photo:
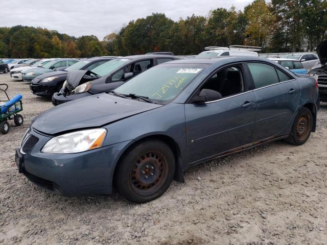
<path fill-rule="evenodd" d="M 82 153 L 52 154 L 41 153 L 50 137 L 33 130 L 30 135 L 39 140 L 27 153 L 16 149 L 16 164 L 31 182 L 66 197 L 112 193 L 115 164 L 130 141 Z"/>

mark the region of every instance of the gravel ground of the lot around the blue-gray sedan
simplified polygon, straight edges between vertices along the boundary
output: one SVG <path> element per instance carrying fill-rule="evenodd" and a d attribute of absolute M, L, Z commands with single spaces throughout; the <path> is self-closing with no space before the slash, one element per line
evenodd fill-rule
<path fill-rule="evenodd" d="M 200 164 L 184 184 L 135 205 L 118 194 L 60 197 L 18 174 L 14 149 L 52 104 L 0 74 L 4 82 L 24 95 L 25 123 L 0 134 L 0 244 L 327 244 L 327 104 L 306 144 L 277 141 Z"/>

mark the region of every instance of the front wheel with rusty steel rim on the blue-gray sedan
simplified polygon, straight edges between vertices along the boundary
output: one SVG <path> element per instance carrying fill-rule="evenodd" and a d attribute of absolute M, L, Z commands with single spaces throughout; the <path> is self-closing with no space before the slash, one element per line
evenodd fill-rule
<path fill-rule="evenodd" d="M 160 140 L 136 143 L 119 161 L 114 186 L 128 201 L 145 203 L 162 195 L 173 180 L 175 157 Z"/>

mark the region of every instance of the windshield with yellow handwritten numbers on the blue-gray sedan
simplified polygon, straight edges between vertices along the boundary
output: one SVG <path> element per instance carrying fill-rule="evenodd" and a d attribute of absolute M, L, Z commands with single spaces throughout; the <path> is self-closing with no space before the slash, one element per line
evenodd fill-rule
<path fill-rule="evenodd" d="M 136 94 L 154 101 L 173 100 L 207 64 L 161 64 L 132 78 L 114 92 Z"/>

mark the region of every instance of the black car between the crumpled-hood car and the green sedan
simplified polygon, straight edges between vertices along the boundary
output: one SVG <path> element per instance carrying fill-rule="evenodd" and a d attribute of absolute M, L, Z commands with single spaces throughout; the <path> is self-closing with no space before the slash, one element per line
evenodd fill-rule
<path fill-rule="evenodd" d="M 38 96 L 48 97 L 58 92 L 67 78 L 67 72 L 71 70 L 91 70 L 95 67 L 112 60 L 112 58 L 89 58 L 83 59 L 62 71 L 52 71 L 37 76 L 32 80 L 30 89 Z"/>

